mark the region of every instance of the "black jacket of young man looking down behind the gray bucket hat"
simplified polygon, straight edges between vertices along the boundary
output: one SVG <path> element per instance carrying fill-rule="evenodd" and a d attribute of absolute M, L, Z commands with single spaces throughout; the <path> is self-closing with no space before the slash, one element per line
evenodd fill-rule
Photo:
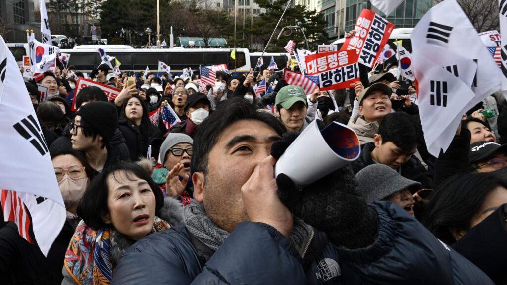
<path fill-rule="evenodd" d="M 374 142 L 368 142 L 361 150 L 361 155 L 357 160 L 352 162 L 352 170 L 354 173 L 374 163 L 372 159 L 372 151 L 375 149 Z M 433 181 L 431 173 L 422 165 L 421 161 L 412 156 L 409 161 L 401 166 L 401 173 L 403 177 L 418 181 L 422 184 L 422 188 L 433 188 Z"/>

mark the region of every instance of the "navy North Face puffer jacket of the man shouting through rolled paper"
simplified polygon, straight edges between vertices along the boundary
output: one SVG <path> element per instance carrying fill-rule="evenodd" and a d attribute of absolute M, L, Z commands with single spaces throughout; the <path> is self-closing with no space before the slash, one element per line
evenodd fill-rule
<path fill-rule="evenodd" d="M 302 259 L 275 228 L 243 222 L 213 253 L 181 226 L 130 247 L 112 284 L 493 284 L 402 208 L 371 207 L 378 234 L 366 248 L 339 248 L 317 234 L 312 244 L 321 244 L 310 247 L 320 250 Z"/>

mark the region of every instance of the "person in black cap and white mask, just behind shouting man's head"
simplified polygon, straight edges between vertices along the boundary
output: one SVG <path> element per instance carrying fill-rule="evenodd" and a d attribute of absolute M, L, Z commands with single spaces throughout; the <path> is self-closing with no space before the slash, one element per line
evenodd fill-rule
<path fill-rule="evenodd" d="M 170 132 L 185 133 L 194 137 L 197 127 L 209 116 L 210 109 L 211 103 L 206 95 L 200 92 L 190 94 L 184 107 L 187 119 L 172 126 Z"/>

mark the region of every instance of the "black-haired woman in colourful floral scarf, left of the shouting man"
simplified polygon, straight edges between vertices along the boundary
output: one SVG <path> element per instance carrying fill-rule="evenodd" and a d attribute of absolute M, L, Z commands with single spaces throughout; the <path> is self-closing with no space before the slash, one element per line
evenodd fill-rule
<path fill-rule="evenodd" d="M 137 240 L 183 223 L 182 205 L 163 198 L 134 163 L 105 169 L 78 206 L 83 218 L 65 253 L 62 284 L 110 284 L 121 255 Z"/>

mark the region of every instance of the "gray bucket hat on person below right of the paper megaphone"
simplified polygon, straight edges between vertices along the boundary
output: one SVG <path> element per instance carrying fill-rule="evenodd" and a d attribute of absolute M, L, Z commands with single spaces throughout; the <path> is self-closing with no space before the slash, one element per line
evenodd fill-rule
<path fill-rule="evenodd" d="M 419 182 L 407 179 L 391 167 L 379 163 L 361 169 L 355 177 L 367 203 L 382 200 L 404 189 L 414 194 L 421 187 Z"/>

